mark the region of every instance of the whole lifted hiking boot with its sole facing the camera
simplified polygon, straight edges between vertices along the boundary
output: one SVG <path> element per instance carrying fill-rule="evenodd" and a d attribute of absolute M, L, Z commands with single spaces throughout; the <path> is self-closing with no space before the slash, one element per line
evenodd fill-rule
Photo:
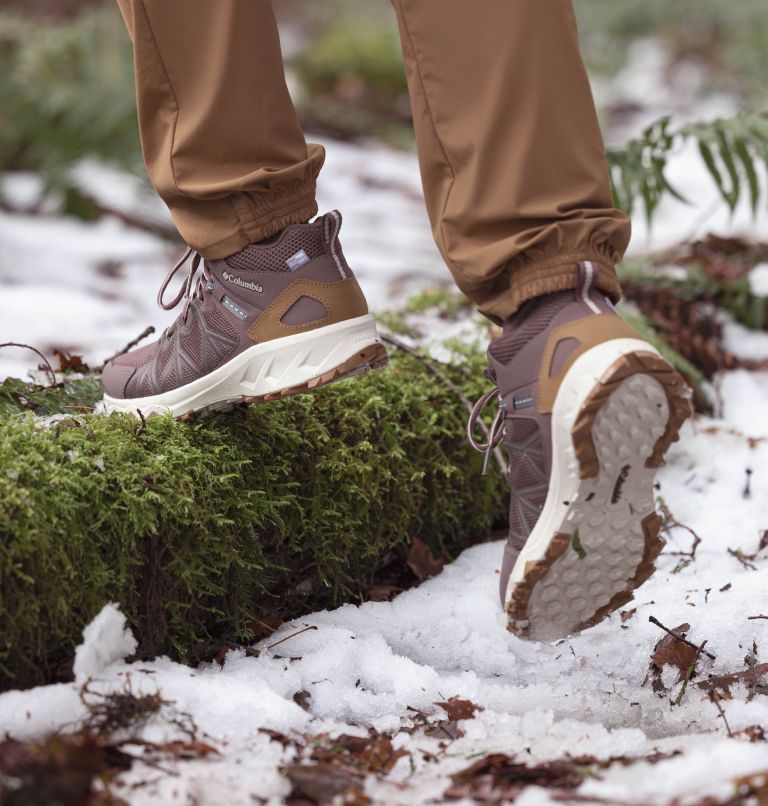
<path fill-rule="evenodd" d="M 527 302 L 488 349 L 498 384 L 470 418 L 486 466 L 504 440 L 511 491 L 501 600 L 509 629 L 551 641 L 626 604 L 654 571 L 654 481 L 690 390 L 592 285 Z M 499 412 L 485 444 L 483 406 Z"/>

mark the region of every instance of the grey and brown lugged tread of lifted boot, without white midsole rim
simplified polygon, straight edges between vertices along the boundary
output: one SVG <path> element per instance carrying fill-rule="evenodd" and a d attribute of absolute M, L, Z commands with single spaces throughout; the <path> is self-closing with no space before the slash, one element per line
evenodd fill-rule
<path fill-rule="evenodd" d="M 664 547 L 655 472 L 690 414 L 685 381 L 653 353 L 622 356 L 598 380 L 571 432 L 576 462 L 567 472 L 578 475 L 579 493 L 564 502 L 544 556 L 512 586 L 511 632 L 535 640 L 579 632 L 651 576 Z"/>

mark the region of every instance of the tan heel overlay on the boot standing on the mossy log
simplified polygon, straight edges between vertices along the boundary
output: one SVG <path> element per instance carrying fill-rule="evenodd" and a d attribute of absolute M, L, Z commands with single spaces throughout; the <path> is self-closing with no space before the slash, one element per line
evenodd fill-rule
<path fill-rule="evenodd" d="M 301 297 L 310 297 L 321 302 L 328 315 L 303 325 L 286 325 L 280 321 Z M 306 333 L 325 325 L 335 325 L 367 313 L 368 303 L 354 277 L 336 283 L 296 280 L 264 309 L 262 315 L 248 329 L 248 335 L 255 342 L 271 341 L 294 333 Z"/>

